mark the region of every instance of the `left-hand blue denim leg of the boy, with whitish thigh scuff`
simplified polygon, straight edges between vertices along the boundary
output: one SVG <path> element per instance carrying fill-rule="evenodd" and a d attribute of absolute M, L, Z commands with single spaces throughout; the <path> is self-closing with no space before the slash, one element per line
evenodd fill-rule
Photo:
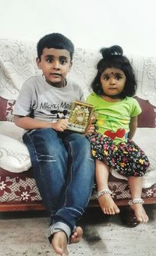
<path fill-rule="evenodd" d="M 37 129 L 23 135 L 34 169 L 34 179 L 51 217 L 65 191 L 68 154 L 55 130 Z"/>

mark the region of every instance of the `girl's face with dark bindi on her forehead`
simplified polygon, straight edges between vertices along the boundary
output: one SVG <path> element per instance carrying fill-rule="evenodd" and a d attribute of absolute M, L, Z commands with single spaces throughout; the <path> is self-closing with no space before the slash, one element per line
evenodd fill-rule
<path fill-rule="evenodd" d="M 126 83 L 125 73 L 121 69 L 108 68 L 101 73 L 101 87 L 104 98 L 118 99 Z"/>

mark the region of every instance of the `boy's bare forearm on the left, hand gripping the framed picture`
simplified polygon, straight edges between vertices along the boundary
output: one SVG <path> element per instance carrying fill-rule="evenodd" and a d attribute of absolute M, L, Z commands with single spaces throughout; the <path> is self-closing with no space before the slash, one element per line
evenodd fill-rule
<path fill-rule="evenodd" d="M 56 123 L 44 122 L 38 119 L 33 119 L 29 116 L 14 116 L 14 123 L 25 130 L 34 130 L 39 128 L 52 128 L 62 132 L 67 129 L 68 121 L 66 119 L 58 120 Z"/>

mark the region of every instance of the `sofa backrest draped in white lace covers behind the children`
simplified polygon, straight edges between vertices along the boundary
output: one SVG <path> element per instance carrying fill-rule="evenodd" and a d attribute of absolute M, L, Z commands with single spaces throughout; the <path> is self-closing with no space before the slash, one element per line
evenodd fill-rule
<path fill-rule="evenodd" d="M 12 121 L 12 108 L 20 88 L 30 76 L 40 73 L 36 65 L 36 43 L 0 38 L 0 120 Z M 137 97 L 144 115 L 139 126 L 155 126 L 156 57 L 127 55 L 137 76 Z M 101 55 L 98 51 L 76 48 L 69 77 L 83 88 L 85 96 Z M 151 116 L 149 115 L 151 113 Z M 146 121 L 146 122 L 145 122 Z"/>

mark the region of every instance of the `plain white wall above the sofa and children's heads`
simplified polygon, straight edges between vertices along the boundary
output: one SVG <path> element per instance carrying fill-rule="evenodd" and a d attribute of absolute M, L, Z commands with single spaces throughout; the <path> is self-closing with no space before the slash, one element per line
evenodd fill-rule
<path fill-rule="evenodd" d="M 0 0 L 0 37 L 38 41 L 59 32 L 76 47 L 120 44 L 156 56 L 155 0 Z"/>

